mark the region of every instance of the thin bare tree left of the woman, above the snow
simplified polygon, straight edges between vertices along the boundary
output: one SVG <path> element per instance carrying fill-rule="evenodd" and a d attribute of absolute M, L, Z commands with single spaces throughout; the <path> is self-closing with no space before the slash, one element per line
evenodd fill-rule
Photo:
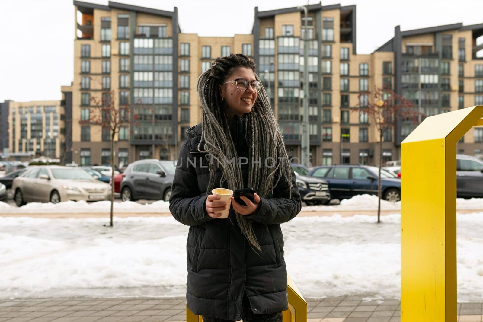
<path fill-rule="evenodd" d="M 119 133 L 121 126 L 137 126 L 137 115 L 129 104 L 116 107 L 114 90 L 102 92 L 101 98 L 91 97 L 91 111 L 89 119 L 80 121 L 81 124 L 100 125 L 109 129 L 111 143 L 111 227 L 113 226 L 114 210 L 114 137 Z"/>

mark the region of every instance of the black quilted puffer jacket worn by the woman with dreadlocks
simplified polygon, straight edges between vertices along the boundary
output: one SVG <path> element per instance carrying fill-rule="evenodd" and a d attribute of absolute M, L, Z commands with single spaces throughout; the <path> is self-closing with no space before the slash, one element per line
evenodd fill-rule
<path fill-rule="evenodd" d="M 242 126 L 241 121 L 236 124 Z M 232 134 L 239 155 L 246 154 L 248 148 L 242 127 L 232 129 Z M 201 124 L 188 129 L 187 137 L 174 174 L 170 211 L 176 220 L 190 226 L 186 244 L 188 308 L 197 315 L 240 320 L 246 292 L 255 314 L 287 309 L 287 273 L 280 224 L 294 218 L 301 208 L 293 170 L 292 198 L 289 198 L 290 187 L 281 180 L 270 196 L 260 198 L 256 212 L 245 216 L 253 221 L 262 249 L 257 253 L 242 235 L 233 209 L 229 219 L 208 216 L 205 203 L 209 159 L 197 149 Z M 186 162 L 187 159 L 192 163 Z M 242 168 L 242 173 L 246 185 L 246 168 Z M 221 170 L 218 170 L 218 184 L 220 178 Z"/>

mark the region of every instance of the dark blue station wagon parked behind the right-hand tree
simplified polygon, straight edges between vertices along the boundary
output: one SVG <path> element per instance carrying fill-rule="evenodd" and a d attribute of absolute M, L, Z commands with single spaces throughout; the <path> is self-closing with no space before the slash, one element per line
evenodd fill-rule
<path fill-rule="evenodd" d="M 348 199 L 356 195 L 376 195 L 379 168 L 363 165 L 315 167 L 309 176 L 327 181 L 333 199 Z M 381 172 L 382 197 L 388 201 L 401 200 L 401 181 Z"/>

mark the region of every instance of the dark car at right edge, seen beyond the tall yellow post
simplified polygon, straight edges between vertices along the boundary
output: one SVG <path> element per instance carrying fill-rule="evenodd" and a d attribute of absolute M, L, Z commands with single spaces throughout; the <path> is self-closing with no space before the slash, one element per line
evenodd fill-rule
<path fill-rule="evenodd" d="M 475 156 L 456 155 L 456 196 L 483 197 L 483 161 Z"/>

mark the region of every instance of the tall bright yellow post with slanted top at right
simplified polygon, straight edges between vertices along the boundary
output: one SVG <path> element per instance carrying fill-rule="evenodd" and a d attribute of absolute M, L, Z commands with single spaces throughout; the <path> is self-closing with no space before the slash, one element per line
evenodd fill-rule
<path fill-rule="evenodd" d="M 456 143 L 482 117 L 427 117 L 401 143 L 401 322 L 456 322 Z"/>

